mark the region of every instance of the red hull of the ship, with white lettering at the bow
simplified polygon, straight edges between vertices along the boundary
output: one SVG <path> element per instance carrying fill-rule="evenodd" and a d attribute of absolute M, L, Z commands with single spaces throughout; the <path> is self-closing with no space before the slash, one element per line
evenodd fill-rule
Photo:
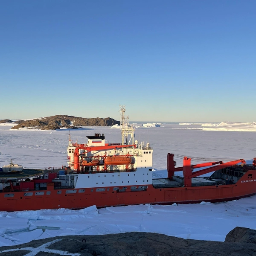
<path fill-rule="evenodd" d="M 250 170 L 236 184 L 216 186 L 192 186 L 156 189 L 149 185 L 144 191 L 106 191 L 86 189 L 53 189 L 49 186 L 44 195 L 35 195 L 36 191 L 0 193 L 0 211 L 22 211 L 38 209 L 81 209 L 96 207 L 125 206 L 135 204 L 191 204 L 201 201 L 220 202 L 256 195 L 256 170 Z M 248 177 L 250 178 L 248 180 Z M 121 189 L 121 188 L 120 188 Z M 61 191 L 61 193 L 60 193 Z M 69 193 L 69 192 L 71 193 Z M 80 192 L 79 192 L 80 191 Z M 48 192 L 48 195 L 47 195 Z M 32 193 L 32 194 L 31 194 Z M 12 197 L 10 197 L 12 195 Z"/>

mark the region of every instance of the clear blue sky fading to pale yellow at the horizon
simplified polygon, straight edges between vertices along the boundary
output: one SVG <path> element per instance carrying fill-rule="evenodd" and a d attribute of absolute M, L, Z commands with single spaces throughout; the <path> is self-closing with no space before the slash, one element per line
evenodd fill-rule
<path fill-rule="evenodd" d="M 254 0 L 0 4 L 0 119 L 256 121 Z"/>

